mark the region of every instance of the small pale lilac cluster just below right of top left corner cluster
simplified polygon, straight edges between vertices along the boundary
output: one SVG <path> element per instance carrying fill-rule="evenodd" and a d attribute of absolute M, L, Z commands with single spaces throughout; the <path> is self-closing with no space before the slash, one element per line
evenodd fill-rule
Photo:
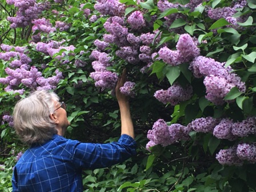
<path fill-rule="evenodd" d="M 45 32 L 45 33 L 52 33 L 56 31 L 56 28 L 51 25 L 49 19 L 42 18 L 42 19 L 35 19 L 32 21 L 34 24 L 32 27 L 32 31 L 35 32 L 36 30 Z"/>

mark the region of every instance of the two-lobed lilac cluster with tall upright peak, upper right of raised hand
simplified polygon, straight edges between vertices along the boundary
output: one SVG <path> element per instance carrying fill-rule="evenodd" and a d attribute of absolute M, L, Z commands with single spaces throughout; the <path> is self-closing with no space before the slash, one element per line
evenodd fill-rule
<path fill-rule="evenodd" d="M 170 50 L 167 47 L 162 47 L 158 51 L 159 57 L 167 64 L 175 66 L 193 60 L 195 57 L 198 57 L 200 53 L 193 38 L 191 38 L 189 34 L 180 35 L 176 49 L 177 50 Z"/>

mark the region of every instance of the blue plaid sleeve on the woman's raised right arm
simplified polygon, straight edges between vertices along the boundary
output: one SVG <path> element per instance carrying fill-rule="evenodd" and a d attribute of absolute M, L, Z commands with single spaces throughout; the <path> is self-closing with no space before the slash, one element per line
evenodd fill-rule
<path fill-rule="evenodd" d="M 123 134 L 118 142 L 98 144 L 78 142 L 73 150 L 74 165 L 82 169 L 97 169 L 121 163 L 136 154 L 136 142 Z"/>

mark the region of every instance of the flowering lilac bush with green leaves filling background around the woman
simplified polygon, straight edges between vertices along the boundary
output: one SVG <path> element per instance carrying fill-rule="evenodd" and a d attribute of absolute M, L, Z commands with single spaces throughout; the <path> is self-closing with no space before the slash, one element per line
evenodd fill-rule
<path fill-rule="evenodd" d="M 254 0 L 0 1 L 0 190 L 26 150 L 15 103 L 53 90 L 67 138 L 120 134 L 126 68 L 138 154 L 85 170 L 85 191 L 255 191 Z"/>

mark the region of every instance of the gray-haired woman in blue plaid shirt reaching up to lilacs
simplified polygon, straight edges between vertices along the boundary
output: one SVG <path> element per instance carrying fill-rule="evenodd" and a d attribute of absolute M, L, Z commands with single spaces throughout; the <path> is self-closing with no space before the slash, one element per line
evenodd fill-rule
<path fill-rule="evenodd" d="M 21 99 L 14 109 L 14 128 L 30 145 L 14 167 L 13 191 L 83 191 L 82 169 L 109 167 L 135 154 L 133 122 L 129 101 L 115 88 L 121 113 L 118 142 L 82 143 L 63 137 L 70 122 L 66 105 L 49 91 L 35 91 Z"/>

